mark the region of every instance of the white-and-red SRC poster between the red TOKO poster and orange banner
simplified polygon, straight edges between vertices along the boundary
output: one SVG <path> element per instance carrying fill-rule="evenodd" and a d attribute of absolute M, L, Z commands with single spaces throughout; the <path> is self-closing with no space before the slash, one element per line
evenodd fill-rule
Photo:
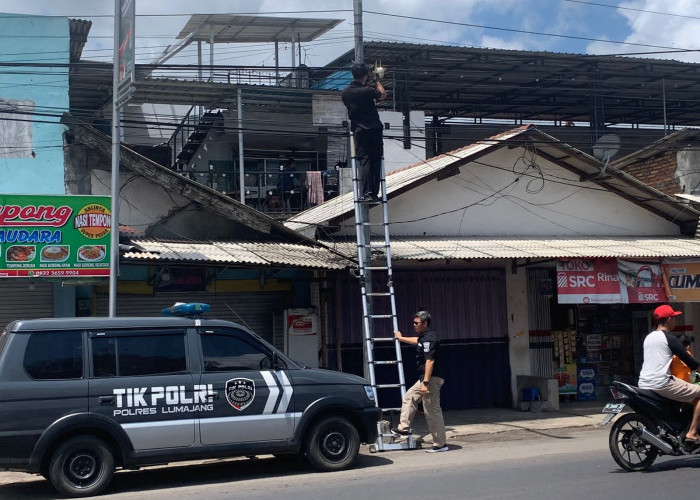
<path fill-rule="evenodd" d="M 666 289 L 659 263 L 642 263 L 618 259 L 620 291 L 623 303 L 655 304 L 666 302 Z"/>

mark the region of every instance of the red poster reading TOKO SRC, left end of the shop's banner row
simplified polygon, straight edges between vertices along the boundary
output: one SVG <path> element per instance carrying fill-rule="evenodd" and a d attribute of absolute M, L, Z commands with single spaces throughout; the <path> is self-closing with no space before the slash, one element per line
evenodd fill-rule
<path fill-rule="evenodd" d="M 560 259 L 557 292 L 560 304 L 619 304 L 617 259 Z"/>

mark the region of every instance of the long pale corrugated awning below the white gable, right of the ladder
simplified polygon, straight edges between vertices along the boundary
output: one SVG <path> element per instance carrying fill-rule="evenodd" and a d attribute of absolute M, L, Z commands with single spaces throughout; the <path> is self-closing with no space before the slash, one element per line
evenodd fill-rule
<path fill-rule="evenodd" d="M 354 258 L 354 242 L 324 241 L 328 247 Z M 593 237 L 578 238 L 392 238 L 393 260 L 553 259 L 578 257 L 660 258 L 700 257 L 700 240 L 690 238 Z"/>

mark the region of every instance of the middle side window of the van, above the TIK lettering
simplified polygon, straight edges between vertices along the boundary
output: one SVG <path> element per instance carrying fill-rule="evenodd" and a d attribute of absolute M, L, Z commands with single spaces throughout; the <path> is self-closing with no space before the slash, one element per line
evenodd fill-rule
<path fill-rule="evenodd" d="M 92 336 L 91 344 L 95 377 L 162 375 L 187 370 L 183 332 Z"/>

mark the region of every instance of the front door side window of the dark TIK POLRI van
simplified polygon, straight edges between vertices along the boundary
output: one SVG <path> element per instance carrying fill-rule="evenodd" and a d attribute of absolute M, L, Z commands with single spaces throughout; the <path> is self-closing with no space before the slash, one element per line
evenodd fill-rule
<path fill-rule="evenodd" d="M 199 336 L 205 372 L 261 370 L 271 367 L 270 355 L 245 334 L 207 332 Z"/>

